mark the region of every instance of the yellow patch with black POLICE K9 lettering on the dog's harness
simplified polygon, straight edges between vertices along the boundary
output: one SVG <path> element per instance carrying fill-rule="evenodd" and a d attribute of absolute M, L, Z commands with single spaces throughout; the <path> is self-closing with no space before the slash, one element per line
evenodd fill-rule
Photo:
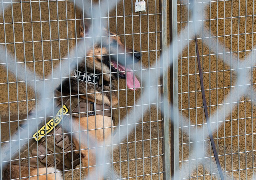
<path fill-rule="evenodd" d="M 35 138 L 36 141 L 39 141 L 42 137 L 45 137 L 45 135 L 50 133 L 54 129 L 54 127 L 56 127 L 61 122 L 61 120 L 62 120 L 62 111 L 63 111 L 63 115 L 68 113 L 69 110 L 68 110 L 66 105 L 63 105 L 63 107 L 59 109 L 58 113 L 55 115 L 54 118 L 49 120 L 46 123 L 46 125 L 44 125 L 43 127 L 41 127 L 38 130 L 38 132 L 35 132 L 33 137 Z"/>

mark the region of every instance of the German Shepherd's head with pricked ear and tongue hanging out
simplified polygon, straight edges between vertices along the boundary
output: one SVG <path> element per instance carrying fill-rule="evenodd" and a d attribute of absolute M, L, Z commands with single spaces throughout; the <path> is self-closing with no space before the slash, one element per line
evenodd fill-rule
<path fill-rule="evenodd" d="M 83 17 L 81 14 L 81 19 Z M 139 88 L 140 83 L 129 66 L 133 67 L 133 63 L 141 59 L 141 53 L 126 47 L 117 34 L 106 28 L 100 29 L 99 21 L 96 22 L 92 27 L 91 18 L 80 20 L 80 36 L 85 38 L 86 56 L 89 56 L 86 58 L 87 71 L 106 73 L 103 79 L 107 82 L 117 79 L 117 76 L 126 78 L 128 88 Z M 84 67 L 84 64 L 79 66 Z"/>

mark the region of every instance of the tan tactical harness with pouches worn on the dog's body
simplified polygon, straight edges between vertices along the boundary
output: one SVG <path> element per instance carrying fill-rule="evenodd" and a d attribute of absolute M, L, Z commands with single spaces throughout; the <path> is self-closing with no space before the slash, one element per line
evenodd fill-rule
<path fill-rule="evenodd" d="M 55 91 L 55 95 L 59 96 L 60 92 Z M 59 170 L 75 168 L 78 164 L 80 164 L 80 157 L 79 153 L 74 153 L 74 151 L 72 151 L 75 149 L 75 145 L 74 143 L 71 143 L 72 130 L 70 126 L 70 115 L 76 117 L 87 117 L 87 115 L 94 116 L 104 114 L 104 116 L 111 117 L 111 108 L 108 105 L 86 102 L 85 99 L 78 99 L 78 96 L 71 96 L 71 98 L 55 97 L 54 99 L 54 113 L 56 114 L 56 112 L 60 112 L 61 115 L 55 115 L 55 117 L 53 117 L 52 111 L 52 114 L 49 113 L 51 114 L 51 116 L 47 117 L 46 120 L 45 118 L 43 118 L 41 123 L 38 124 L 38 127 L 41 127 L 41 129 L 39 130 L 42 130 L 42 132 L 47 132 L 47 128 L 49 128 L 50 125 L 53 125 L 54 123 L 56 124 L 56 122 L 60 121 L 58 125 L 54 126 L 53 129 L 55 129 L 55 131 L 53 130 L 49 133 L 46 133 L 46 138 L 45 135 L 39 137 L 39 130 L 34 134 L 35 136 L 32 136 L 32 134 L 30 134 L 30 137 L 35 138 L 29 140 L 29 147 L 28 143 L 21 147 L 20 162 L 19 150 L 17 150 L 13 156 L 15 157 L 13 159 L 17 160 L 12 161 L 11 164 L 30 166 L 34 168 L 46 167 L 47 164 L 47 167 L 56 166 Z M 66 114 L 64 113 L 64 107 L 68 109 L 68 112 L 65 112 Z M 29 119 L 33 117 L 33 114 L 34 113 L 30 112 Z M 112 117 L 114 120 L 114 113 L 112 113 Z M 29 129 L 28 126 L 29 125 L 22 124 L 19 128 L 27 130 L 27 128 Z"/>

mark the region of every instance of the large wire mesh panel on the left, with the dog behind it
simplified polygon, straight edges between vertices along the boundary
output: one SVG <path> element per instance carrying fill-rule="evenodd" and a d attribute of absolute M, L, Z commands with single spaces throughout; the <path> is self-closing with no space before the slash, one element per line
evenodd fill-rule
<path fill-rule="evenodd" d="M 163 178 L 166 5 L 0 2 L 2 179 Z"/>

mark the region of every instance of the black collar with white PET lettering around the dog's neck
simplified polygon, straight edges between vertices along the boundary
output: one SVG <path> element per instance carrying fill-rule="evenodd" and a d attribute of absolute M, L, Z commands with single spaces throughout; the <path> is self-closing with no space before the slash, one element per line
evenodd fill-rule
<path fill-rule="evenodd" d="M 78 69 L 75 69 L 74 76 L 76 79 L 84 82 L 88 82 L 91 84 L 95 84 L 96 86 L 102 86 L 102 75 L 101 74 L 93 74 L 84 72 Z M 109 82 L 104 81 L 103 79 L 103 85 L 109 85 Z"/>

